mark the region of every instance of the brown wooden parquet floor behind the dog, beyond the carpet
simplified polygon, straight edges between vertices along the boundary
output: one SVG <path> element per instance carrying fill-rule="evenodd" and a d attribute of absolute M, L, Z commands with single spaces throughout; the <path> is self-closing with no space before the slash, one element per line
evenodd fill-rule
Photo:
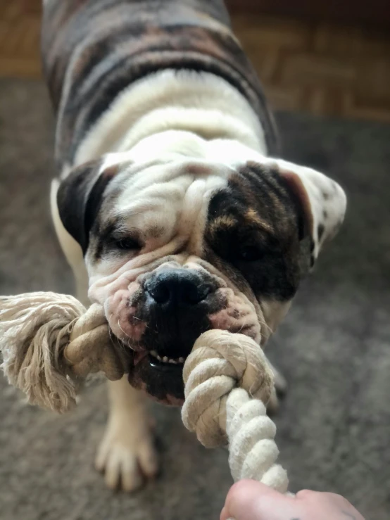
<path fill-rule="evenodd" d="M 0 0 L 0 77 L 39 78 L 39 1 Z M 234 29 L 277 109 L 390 122 L 390 34 L 260 15 Z"/>

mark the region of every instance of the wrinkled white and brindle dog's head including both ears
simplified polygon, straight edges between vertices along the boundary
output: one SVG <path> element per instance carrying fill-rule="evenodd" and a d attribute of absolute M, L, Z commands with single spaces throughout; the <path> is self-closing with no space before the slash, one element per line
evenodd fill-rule
<path fill-rule="evenodd" d="M 233 167 L 114 154 L 77 168 L 58 191 L 89 297 L 132 349 L 130 383 L 172 404 L 203 331 L 265 343 L 345 207 L 328 177 L 261 156 Z"/>

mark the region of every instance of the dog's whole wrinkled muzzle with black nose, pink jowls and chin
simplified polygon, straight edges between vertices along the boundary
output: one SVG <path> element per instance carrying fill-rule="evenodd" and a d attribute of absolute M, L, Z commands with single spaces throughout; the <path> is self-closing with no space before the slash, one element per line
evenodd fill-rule
<path fill-rule="evenodd" d="M 209 329 L 240 332 L 260 343 L 256 306 L 198 262 L 165 262 L 107 286 L 104 307 L 113 336 L 129 347 L 129 381 L 156 400 L 181 405 L 182 369 Z"/>

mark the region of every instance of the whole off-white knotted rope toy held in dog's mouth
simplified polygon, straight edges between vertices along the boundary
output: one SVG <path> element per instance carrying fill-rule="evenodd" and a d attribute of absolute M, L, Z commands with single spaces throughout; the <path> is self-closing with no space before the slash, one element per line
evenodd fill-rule
<path fill-rule="evenodd" d="M 111 338 L 103 308 L 87 310 L 73 296 L 27 293 L 0 297 L 1 367 L 27 401 L 56 412 L 76 403 L 90 373 L 112 381 L 125 374 L 128 354 Z M 265 405 L 274 389 L 263 350 L 248 336 L 202 334 L 183 369 L 182 421 L 206 448 L 229 446 L 234 481 L 253 478 L 287 492 L 287 472 L 275 464 L 275 424 Z"/>

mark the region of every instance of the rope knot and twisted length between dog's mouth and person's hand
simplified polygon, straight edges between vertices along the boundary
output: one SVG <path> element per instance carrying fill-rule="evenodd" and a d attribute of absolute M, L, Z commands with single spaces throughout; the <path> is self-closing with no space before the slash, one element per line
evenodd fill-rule
<path fill-rule="evenodd" d="M 260 346 L 243 334 L 207 331 L 196 341 L 183 375 L 184 426 L 206 448 L 229 443 L 235 481 L 255 478 L 286 492 L 287 473 L 275 464 L 276 427 L 265 409 L 273 374 Z"/>

